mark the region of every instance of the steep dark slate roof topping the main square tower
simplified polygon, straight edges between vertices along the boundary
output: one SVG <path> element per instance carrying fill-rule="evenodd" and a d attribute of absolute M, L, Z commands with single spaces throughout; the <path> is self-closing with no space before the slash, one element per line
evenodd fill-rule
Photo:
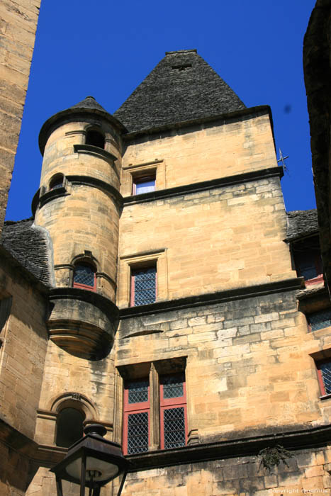
<path fill-rule="evenodd" d="M 166 56 L 114 113 L 129 133 L 246 108 L 196 50 Z"/>

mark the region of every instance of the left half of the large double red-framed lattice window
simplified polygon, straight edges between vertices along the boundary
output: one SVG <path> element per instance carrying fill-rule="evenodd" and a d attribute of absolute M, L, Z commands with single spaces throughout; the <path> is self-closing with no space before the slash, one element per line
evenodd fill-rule
<path fill-rule="evenodd" d="M 148 451 L 150 442 L 150 385 L 148 379 L 131 381 L 124 388 L 123 451 Z"/>

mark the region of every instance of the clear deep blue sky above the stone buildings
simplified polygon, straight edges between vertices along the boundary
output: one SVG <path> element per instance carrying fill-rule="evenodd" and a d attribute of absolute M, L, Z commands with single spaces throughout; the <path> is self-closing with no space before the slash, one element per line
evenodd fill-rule
<path fill-rule="evenodd" d="M 270 105 L 287 210 L 315 208 L 302 47 L 315 0 L 42 0 L 6 218 L 30 217 L 38 133 L 93 95 L 110 113 L 164 57 L 196 48 L 246 106 Z"/>

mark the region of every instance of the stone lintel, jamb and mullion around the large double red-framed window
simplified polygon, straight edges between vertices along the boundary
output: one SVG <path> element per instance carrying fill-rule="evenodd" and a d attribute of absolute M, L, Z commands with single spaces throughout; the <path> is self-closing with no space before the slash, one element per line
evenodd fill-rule
<path fill-rule="evenodd" d="M 113 441 L 123 445 L 124 381 L 149 378 L 150 381 L 150 443 L 148 451 L 160 449 L 159 376 L 185 373 L 187 356 L 116 367 L 114 395 Z M 188 422 L 189 423 L 189 422 Z M 189 425 L 187 425 L 189 432 Z M 196 435 L 196 429 L 194 429 Z M 188 444 L 190 441 L 190 434 Z"/>

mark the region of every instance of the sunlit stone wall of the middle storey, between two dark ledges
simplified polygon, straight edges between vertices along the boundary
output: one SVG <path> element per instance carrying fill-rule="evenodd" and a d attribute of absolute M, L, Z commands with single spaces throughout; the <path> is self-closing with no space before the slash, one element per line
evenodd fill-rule
<path fill-rule="evenodd" d="M 285 237 L 278 177 L 129 203 L 120 218 L 118 305 L 128 306 L 130 255 L 164 250 L 157 300 L 171 300 L 295 276 Z"/>

